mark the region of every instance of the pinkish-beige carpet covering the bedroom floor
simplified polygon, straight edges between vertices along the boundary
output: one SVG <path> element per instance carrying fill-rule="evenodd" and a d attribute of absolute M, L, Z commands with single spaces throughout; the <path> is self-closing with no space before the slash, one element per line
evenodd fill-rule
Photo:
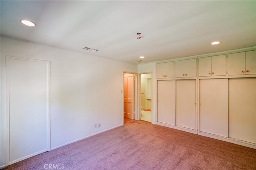
<path fill-rule="evenodd" d="M 4 170 L 45 170 L 45 164 L 59 164 L 64 170 L 255 170 L 256 150 L 124 119 L 124 126 L 33 156 Z"/>

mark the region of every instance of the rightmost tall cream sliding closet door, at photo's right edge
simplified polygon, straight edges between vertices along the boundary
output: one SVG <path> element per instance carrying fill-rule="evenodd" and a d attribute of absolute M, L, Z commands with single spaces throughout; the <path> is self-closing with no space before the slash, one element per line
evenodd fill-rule
<path fill-rule="evenodd" d="M 228 136 L 256 143 L 256 78 L 229 79 Z"/>

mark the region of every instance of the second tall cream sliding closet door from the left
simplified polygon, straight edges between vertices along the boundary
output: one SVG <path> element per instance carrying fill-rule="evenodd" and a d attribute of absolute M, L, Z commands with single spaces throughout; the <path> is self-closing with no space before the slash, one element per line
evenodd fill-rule
<path fill-rule="evenodd" d="M 196 80 L 176 80 L 176 125 L 196 129 Z"/>

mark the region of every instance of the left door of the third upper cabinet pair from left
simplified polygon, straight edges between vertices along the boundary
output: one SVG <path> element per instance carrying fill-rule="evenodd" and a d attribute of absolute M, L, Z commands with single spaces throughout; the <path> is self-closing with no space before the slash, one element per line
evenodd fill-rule
<path fill-rule="evenodd" d="M 203 57 L 198 59 L 198 71 L 199 76 L 211 76 L 212 74 L 212 62 L 211 57 Z"/>

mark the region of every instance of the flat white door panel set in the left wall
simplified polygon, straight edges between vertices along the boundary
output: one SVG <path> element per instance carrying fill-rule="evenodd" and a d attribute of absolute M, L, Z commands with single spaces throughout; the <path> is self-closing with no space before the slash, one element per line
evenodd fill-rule
<path fill-rule="evenodd" d="M 49 149 L 50 62 L 7 57 L 9 164 Z"/>

